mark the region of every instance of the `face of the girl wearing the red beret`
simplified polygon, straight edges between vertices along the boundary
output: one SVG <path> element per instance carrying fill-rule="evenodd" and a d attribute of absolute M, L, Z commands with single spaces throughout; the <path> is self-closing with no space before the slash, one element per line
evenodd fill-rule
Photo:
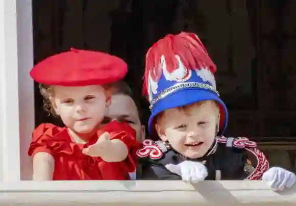
<path fill-rule="evenodd" d="M 56 113 L 73 132 L 88 134 L 100 125 L 110 105 L 101 86 L 54 87 L 51 100 Z"/>

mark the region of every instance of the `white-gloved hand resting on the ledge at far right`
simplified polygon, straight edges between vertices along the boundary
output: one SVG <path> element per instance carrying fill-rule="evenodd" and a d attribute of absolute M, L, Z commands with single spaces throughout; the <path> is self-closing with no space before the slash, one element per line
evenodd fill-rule
<path fill-rule="evenodd" d="M 281 167 L 272 167 L 263 174 L 262 180 L 266 181 L 267 185 L 274 191 L 283 191 L 295 184 L 296 175 Z"/>

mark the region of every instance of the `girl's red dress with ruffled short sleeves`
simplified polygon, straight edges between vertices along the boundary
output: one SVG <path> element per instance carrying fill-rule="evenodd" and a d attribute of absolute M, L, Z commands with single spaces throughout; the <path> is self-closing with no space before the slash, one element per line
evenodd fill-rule
<path fill-rule="evenodd" d="M 126 160 L 108 163 L 100 157 L 82 153 L 83 148 L 94 144 L 104 132 L 109 132 L 111 139 L 120 139 L 127 145 L 130 152 Z M 137 165 L 136 151 L 141 147 L 135 137 L 136 133 L 129 124 L 112 121 L 104 125 L 87 144 L 79 144 L 71 141 L 66 127 L 43 123 L 33 132 L 28 155 L 50 153 L 55 159 L 53 180 L 129 180 L 129 172 L 135 171 Z"/>

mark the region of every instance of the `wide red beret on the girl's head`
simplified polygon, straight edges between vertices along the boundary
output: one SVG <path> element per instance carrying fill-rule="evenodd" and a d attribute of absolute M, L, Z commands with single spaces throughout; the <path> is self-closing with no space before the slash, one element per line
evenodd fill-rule
<path fill-rule="evenodd" d="M 99 51 L 70 51 L 46 58 L 30 71 L 38 83 L 60 86 L 102 85 L 119 81 L 128 72 L 126 62 Z"/>

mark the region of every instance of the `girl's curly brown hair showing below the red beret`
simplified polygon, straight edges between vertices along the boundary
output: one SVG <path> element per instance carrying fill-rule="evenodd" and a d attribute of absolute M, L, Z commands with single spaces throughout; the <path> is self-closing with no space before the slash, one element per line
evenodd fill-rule
<path fill-rule="evenodd" d="M 51 98 L 54 97 L 54 88 L 52 85 L 45 85 L 45 84 L 39 84 L 39 91 L 43 97 L 43 109 L 48 112 L 49 115 L 53 115 L 54 117 L 58 117 L 53 104 L 51 102 Z M 110 91 L 112 93 L 113 86 L 112 84 L 106 84 L 102 85 L 105 90 Z"/>

